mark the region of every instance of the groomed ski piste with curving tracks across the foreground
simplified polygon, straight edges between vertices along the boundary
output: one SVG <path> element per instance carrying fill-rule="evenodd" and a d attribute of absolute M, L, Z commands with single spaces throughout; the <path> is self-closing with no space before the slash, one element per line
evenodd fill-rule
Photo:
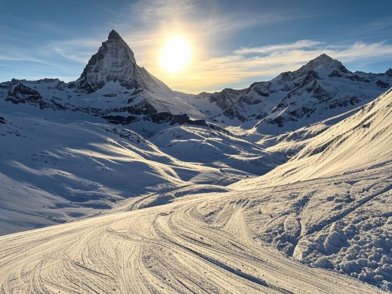
<path fill-rule="evenodd" d="M 219 213 L 208 207 L 210 202 L 226 206 Z M 243 204 L 238 194 L 205 194 L 0 237 L 0 290 L 381 293 L 258 246 L 244 220 Z M 214 218 L 216 213 L 221 217 Z"/>

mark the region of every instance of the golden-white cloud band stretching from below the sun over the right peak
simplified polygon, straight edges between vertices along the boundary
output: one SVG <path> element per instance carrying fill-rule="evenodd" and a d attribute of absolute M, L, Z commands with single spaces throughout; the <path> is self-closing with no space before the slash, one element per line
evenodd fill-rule
<path fill-rule="evenodd" d="M 248 55 L 250 53 L 251 56 Z M 243 81 L 266 81 L 283 71 L 296 70 L 323 53 L 343 63 L 376 62 L 392 58 L 392 45 L 386 42 L 355 42 L 334 46 L 320 41 L 299 40 L 292 44 L 242 47 L 231 55 L 198 63 L 181 79 L 166 76 L 164 81 L 174 89 L 194 93 L 206 89 L 221 90 L 224 86 Z"/>

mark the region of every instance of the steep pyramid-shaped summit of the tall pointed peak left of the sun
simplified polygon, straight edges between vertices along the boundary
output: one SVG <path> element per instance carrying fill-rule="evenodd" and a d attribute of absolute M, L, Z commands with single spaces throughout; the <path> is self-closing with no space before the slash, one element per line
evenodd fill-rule
<path fill-rule="evenodd" d="M 128 90 L 173 93 L 144 67 L 136 64 L 132 50 L 115 30 L 109 33 L 107 41 L 102 42 L 102 46 L 91 57 L 80 77 L 69 86 L 93 93 L 108 82 L 118 82 Z"/>

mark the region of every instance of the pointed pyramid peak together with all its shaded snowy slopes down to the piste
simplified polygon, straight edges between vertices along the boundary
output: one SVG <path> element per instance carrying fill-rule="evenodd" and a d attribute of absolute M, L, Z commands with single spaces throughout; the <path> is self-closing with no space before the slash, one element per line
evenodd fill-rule
<path fill-rule="evenodd" d="M 115 31 L 75 82 L 1 83 L 0 234 L 124 210 L 184 186 L 225 186 L 285 161 L 190 118 L 204 115 L 178 96 L 190 97 L 137 66 Z"/>

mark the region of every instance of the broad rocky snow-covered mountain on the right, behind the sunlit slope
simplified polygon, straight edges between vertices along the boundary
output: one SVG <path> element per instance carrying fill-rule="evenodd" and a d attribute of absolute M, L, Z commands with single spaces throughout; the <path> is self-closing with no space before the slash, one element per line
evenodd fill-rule
<path fill-rule="evenodd" d="M 254 83 L 243 90 L 201 93 L 184 100 L 222 125 L 277 135 L 370 102 L 392 85 L 391 71 L 350 72 L 341 62 L 323 54 L 269 82 Z"/>

